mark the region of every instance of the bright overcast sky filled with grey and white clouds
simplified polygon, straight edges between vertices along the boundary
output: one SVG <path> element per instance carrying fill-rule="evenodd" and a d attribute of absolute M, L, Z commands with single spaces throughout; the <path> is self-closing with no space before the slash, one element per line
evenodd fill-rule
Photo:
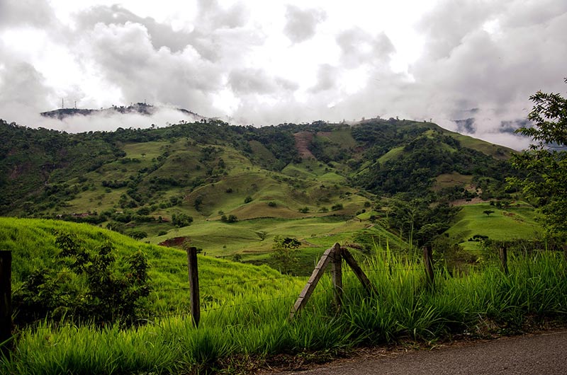
<path fill-rule="evenodd" d="M 174 108 L 254 126 L 398 117 L 522 149 L 529 96 L 567 91 L 565 35 L 565 0 L 0 0 L 0 118 L 83 132 L 186 120 Z M 162 109 L 39 115 L 144 101 Z"/>

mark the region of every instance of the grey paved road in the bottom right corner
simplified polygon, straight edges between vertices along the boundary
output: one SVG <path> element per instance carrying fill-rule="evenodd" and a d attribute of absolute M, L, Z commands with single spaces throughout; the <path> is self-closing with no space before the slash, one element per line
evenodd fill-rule
<path fill-rule="evenodd" d="M 272 374 L 567 374 L 567 330 L 339 360 Z"/>

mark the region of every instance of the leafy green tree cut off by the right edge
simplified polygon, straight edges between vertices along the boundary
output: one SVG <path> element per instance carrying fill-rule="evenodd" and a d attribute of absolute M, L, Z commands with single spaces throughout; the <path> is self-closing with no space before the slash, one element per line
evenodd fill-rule
<path fill-rule="evenodd" d="M 565 79 L 567 83 L 567 79 Z M 541 214 L 541 224 L 551 236 L 567 238 L 567 99 L 558 93 L 538 91 L 528 120 L 532 127 L 517 133 L 532 137 L 529 149 L 517 154 L 512 165 L 524 178 L 510 178 Z"/>

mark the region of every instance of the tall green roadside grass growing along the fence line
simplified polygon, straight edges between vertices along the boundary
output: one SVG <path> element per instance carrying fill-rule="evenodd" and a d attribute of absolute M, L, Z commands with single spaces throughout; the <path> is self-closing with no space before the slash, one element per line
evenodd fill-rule
<path fill-rule="evenodd" d="M 57 327 L 43 323 L 16 337 L 1 374 L 186 374 L 214 371 L 231 359 L 274 354 L 337 352 L 400 340 L 436 340 L 483 334 L 487 328 L 520 330 L 526 323 L 567 316 L 567 267 L 562 256 L 512 257 L 510 275 L 486 267 L 461 277 L 437 272 L 434 287 L 416 260 L 388 249 L 365 265 L 377 293 L 367 296 L 352 272 L 344 274 L 340 311 L 323 277 L 312 299 L 288 320 L 299 289 L 250 287 L 210 302 L 198 329 L 189 317 L 156 318 L 120 330 Z M 283 285 L 283 284 L 282 284 Z M 289 289 L 286 289 L 289 288 Z"/>

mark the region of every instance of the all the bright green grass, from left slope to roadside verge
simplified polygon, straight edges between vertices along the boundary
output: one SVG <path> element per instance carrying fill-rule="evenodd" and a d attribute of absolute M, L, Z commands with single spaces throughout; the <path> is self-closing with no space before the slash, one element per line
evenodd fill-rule
<path fill-rule="evenodd" d="M 335 307 L 325 275 L 292 320 L 288 314 L 306 278 L 201 255 L 201 323 L 194 328 L 183 251 L 92 226 L 2 220 L 0 244 L 13 251 L 15 264 L 54 265 L 52 229 L 71 230 L 89 246 L 111 241 L 121 256 L 142 250 L 152 264 L 155 290 L 145 324 L 135 327 L 45 320 L 17 328 L 13 352 L 0 359 L 2 374 L 245 373 L 282 353 L 320 361 L 369 345 L 517 333 L 550 319 L 563 321 L 567 313 L 562 254 L 511 255 L 510 275 L 495 263 L 459 277 L 436 269 L 434 287 L 427 287 L 420 260 L 398 258 L 386 243 L 376 245 L 366 261 L 357 255 L 376 294 L 367 295 L 345 267 L 342 308 Z M 15 287 L 25 270 L 15 267 Z"/>

